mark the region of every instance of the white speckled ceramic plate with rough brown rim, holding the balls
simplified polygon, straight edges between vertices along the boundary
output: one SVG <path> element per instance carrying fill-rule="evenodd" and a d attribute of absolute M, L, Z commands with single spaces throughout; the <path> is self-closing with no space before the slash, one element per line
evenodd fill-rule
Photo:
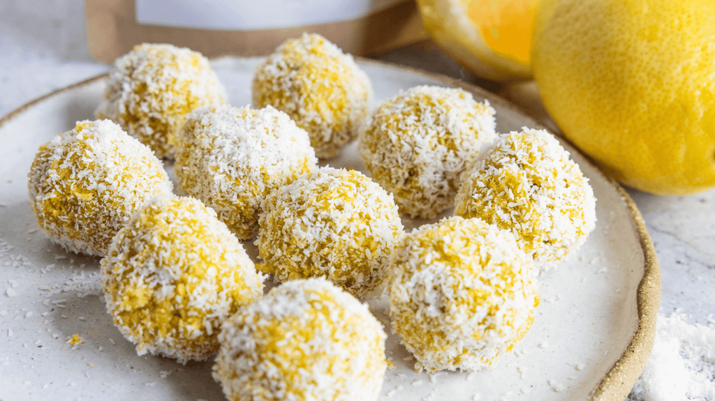
<path fill-rule="evenodd" d="M 258 61 L 213 62 L 233 105 L 250 103 Z M 488 98 L 497 110 L 498 131 L 536 126 L 501 98 L 459 81 L 374 61 L 360 65 L 378 100 L 420 84 L 462 86 L 478 100 Z M 29 208 L 26 174 L 35 152 L 75 121 L 93 119 L 105 80 L 61 89 L 0 120 L 0 399 L 223 400 L 210 375 L 212 360 L 184 366 L 137 356 L 98 296 L 99 259 L 53 245 Z M 639 286 L 659 277 L 657 263 L 649 261 L 649 238 L 638 232 L 638 212 L 625 193 L 565 146 L 591 179 L 598 224 L 578 253 L 541 274 L 542 302 L 526 337 L 490 370 L 430 377 L 413 370 L 414 361 L 390 335 L 388 357 L 395 368 L 385 378 L 382 399 L 582 400 L 627 394 L 650 352 L 654 320 L 644 318 L 644 310 L 655 312 L 658 296 L 654 283 L 650 298 L 639 295 Z M 330 164 L 364 170 L 355 144 Z M 371 307 L 388 324 L 385 300 Z M 84 342 L 73 348 L 66 340 L 74 334 Z"/>

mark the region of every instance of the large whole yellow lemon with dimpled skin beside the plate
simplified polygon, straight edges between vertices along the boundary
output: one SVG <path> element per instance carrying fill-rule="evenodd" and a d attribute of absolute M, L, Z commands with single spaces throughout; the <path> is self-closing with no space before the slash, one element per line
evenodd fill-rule
<path fill-rule="evenodd" d="M 545 0 L 532 67 L 564 135 L 626 186 L 715 186 L 715 3 Z"/>

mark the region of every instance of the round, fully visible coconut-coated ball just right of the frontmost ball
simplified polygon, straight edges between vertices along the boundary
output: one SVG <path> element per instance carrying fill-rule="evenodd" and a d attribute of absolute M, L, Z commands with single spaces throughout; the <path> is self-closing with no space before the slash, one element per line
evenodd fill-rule
<path fill-rule="evenodd" d="M 535 270 L 511 233 L 477 218 L 405 235 L 390 270 L 390 320 L 415 369 L 480 370 L 511 350 L 539 303 Z"/>

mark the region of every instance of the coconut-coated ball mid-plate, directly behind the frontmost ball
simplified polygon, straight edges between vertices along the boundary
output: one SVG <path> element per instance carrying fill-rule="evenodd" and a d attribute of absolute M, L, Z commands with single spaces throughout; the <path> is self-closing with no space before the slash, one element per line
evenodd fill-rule
<path fill-rule="evenodd" d="M 403 233 L 392 196 L 358 171 L 329 167 L 270 193 L 259 224 L 259 270 L 325 277 L 358 297 L 381 288 Z"/>

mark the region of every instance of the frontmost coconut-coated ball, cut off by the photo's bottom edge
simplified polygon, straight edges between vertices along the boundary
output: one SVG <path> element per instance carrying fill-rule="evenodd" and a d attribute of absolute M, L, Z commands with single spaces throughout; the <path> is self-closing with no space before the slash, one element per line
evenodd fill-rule
<path fill-rule="evenodd" d="M 323 279 L 272 288 L 219 339 L 213 375 L 232 401 L 374 401 L 383 385 L 382 325 Z"/>

